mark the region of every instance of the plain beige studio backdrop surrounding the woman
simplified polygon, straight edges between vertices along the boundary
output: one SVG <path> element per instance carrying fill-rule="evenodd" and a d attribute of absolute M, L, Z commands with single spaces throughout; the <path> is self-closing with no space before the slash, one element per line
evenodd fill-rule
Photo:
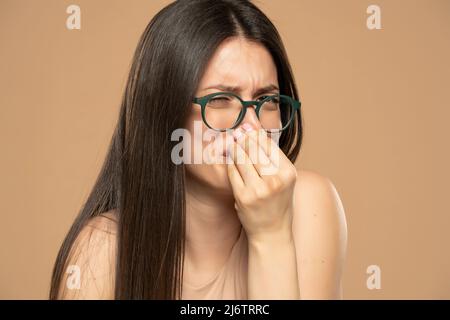
<path fill-rule="evenodd" d="M 47 297 L 143 29 L 170 1 L 0 1 L 0 298 Z M 81 30 L 66 8 L 81 7 Z M 450 298 L 450 1 L 255 1 L 303 101 L 298 166 L 346 209 L 346 299 Z M 366 8 L 381 7 L 382 30 Z M 381 268 L 368 290 L 366 268 Z"/>

